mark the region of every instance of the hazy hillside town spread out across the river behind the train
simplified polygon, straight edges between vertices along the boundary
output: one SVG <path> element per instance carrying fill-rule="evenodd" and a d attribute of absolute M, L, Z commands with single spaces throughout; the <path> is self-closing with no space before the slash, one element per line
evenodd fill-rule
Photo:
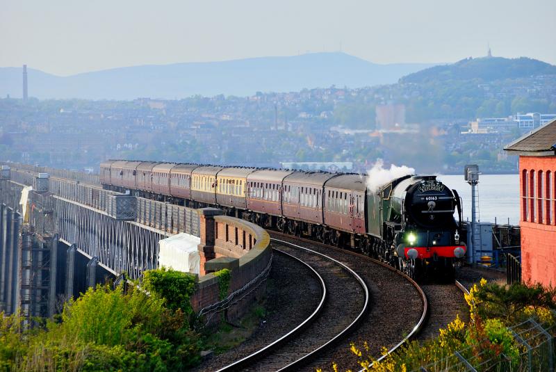
<path fill-rule="evenodd" d="M 384 159 L 457 173 L 473 159 L 485 172 L 515 172 L 502 146 L 555 118 L 556 77 L 467 85 L 452 102 L 416 83 L 132 102 L 5 98 L 0 154 L 75 170 L 118 158 L 364 171 Z"/>

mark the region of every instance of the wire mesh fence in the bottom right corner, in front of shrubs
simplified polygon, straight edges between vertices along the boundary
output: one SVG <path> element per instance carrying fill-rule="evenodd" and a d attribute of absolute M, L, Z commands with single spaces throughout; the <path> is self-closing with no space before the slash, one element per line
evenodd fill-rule
<path fill-rule="evenodd" d="M 555 325 L 541 325 L 530 318 L 509 329 L 518 345 L 514 355 L 497 355 L 488 348 L 468 346 L 415 371 L 554 371 Z"/>

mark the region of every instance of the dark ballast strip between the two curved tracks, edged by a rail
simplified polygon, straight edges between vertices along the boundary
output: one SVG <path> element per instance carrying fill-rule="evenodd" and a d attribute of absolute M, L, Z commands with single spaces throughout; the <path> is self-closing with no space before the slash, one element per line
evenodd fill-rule
<path fill-rule="evenodd" d="M 363 254 L 304 238 L 294 238 L 275 232 L 270 232 L 270 234 L 275 237 L 279 236 L 281 240 L 295 241 L 297 245 L 310 247 L 311 250 L 342 261 L 367 282 L 371 292 L 370 311 L 357 326 L 357 332 L 352 332 L 331 346 L 326 355 L 320 355 L 318 359 L 304 368 L 307 371 L 314 371 L 318 367 L 328 370 L 333 361 L 338 364 L 340 370 L 357 370 L 358 358 L 350 353 L 351 342 L 361 347 L 363 342 L 367 341 L 369 352 L 379 355 L 383 346 L 397 346 L 395 342 L 398 341 L 393 342 L 393 340 L 400 340 L 402 334 L 410 336 L 416 334 L 425 322 L 427 298 L 418 284 L 407 275 Z M 407 314 L 398 316 L 403 312 L 407 312 Z M 403 341 L 398 345 L 401 343 Z"/>

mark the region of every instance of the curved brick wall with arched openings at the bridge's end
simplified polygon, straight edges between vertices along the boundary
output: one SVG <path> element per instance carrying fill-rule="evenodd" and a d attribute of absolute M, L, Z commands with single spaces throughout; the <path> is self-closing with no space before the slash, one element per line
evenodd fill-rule
<path fill-rule="evenodd" d="M 252 282 L 270 264 L 270 236 L 265 229 L 238 218 L 221 216 L 220 213 L 222 212 L 218 209 L 199 209 L 201 275 L 197 292 L 191 298 L 195 312 L 220 301 L 218 277 L 212 273 L 205 273 L 205 266 L 215 270 L 230 268 L 230 294 Z M 222 260 L 222 257 L 231 259 Z M 259 282 L 252 288 L 259 285 Z M 246 292 L 248 291 L 250 289 Z M 259 285 L 240 302 L 229 307 L 225 312 L 227 319 L 234 320 L 243 316 L 250 309 L 251 303 L 263 296 L 264 291 L 265 286 Z M 219 318 L 213 316 L 214 321 L 218 321 Z"/>

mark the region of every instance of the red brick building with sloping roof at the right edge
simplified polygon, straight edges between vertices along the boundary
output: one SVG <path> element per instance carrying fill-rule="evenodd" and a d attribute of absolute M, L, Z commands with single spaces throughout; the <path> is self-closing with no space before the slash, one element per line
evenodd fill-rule
<path fill-rule="evenodd" d="M 519 155 L 523 281 L 556 286 L 556 120 L 505 150 Z"/>

